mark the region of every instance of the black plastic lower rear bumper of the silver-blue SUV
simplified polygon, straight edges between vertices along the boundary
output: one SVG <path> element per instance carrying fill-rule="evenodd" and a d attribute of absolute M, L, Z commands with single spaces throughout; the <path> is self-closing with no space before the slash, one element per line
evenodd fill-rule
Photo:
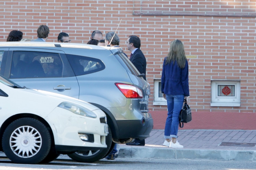
<path fill-rule="evenodd" d="M 116 122 L 120 132 L 119 139 L 146 139 L 147 137 L 150 137 L 150 132 L 153 129 L 152 117 L 147 120 L 118 120 Z"/>

